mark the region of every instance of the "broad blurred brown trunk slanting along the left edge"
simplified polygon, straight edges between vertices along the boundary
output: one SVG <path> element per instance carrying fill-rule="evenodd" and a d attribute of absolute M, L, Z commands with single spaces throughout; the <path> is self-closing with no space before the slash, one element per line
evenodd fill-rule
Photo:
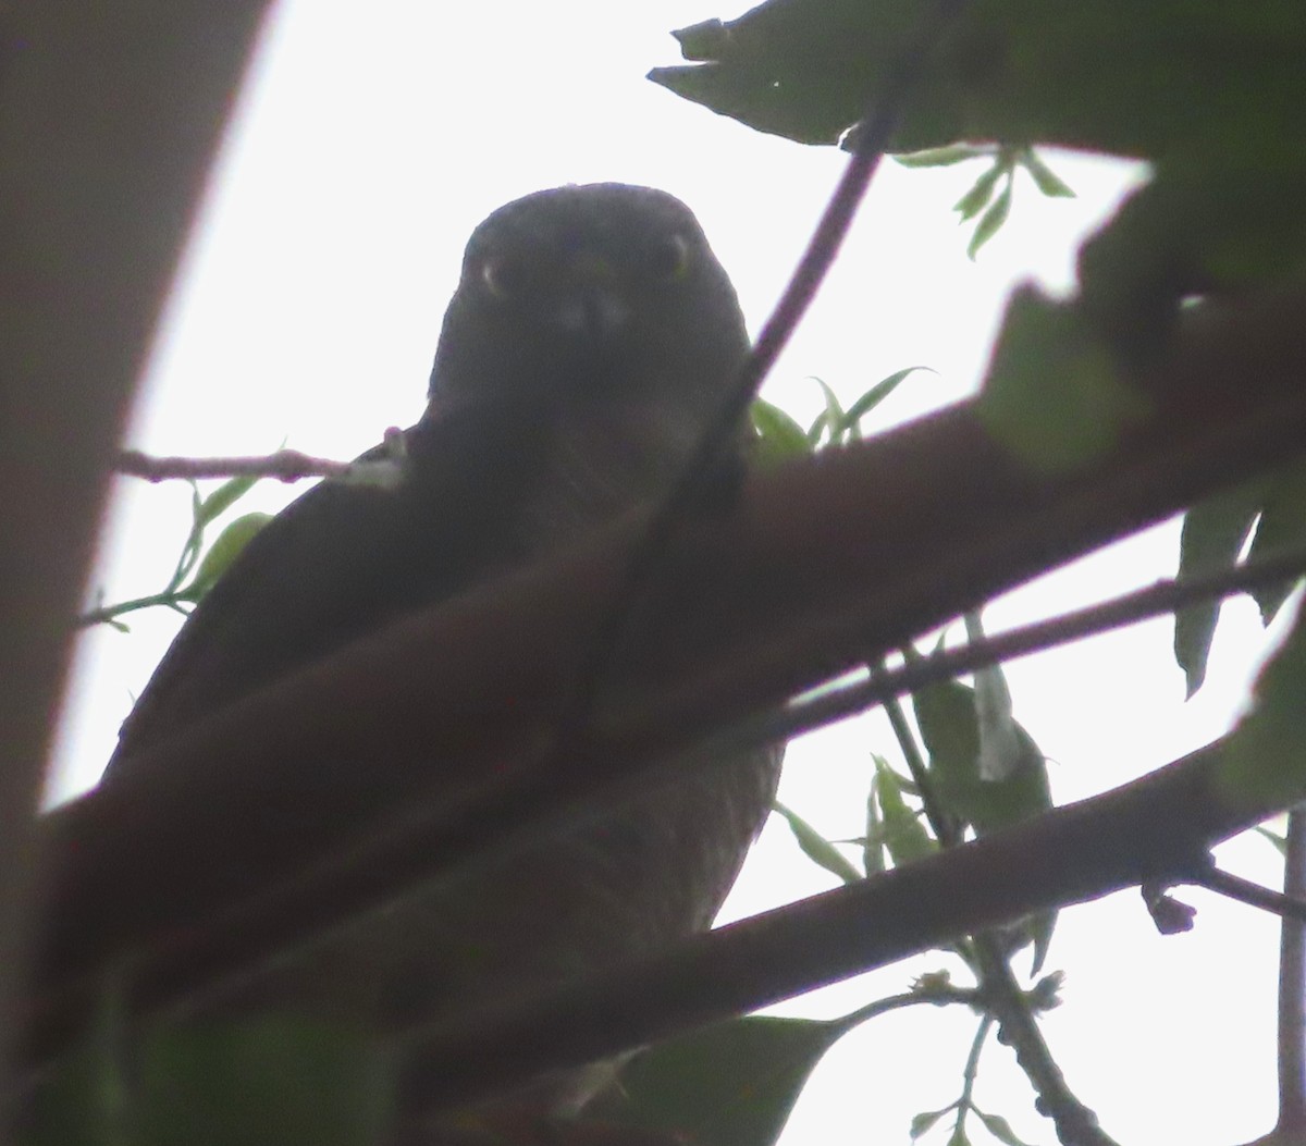
<path fill-rule="evenodd" d="M 12 0 L 0 12 L 0 1056 L 35 918 L 33 814 L 67 619 L 265 7 Z"/>

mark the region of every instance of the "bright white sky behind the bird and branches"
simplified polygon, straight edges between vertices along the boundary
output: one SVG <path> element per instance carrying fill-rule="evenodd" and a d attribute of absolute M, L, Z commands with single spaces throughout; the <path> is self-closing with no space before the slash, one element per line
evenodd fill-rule
<path fill-rule="evenodd" d="M 131 444 L 234 454 L 289 439 L 349 458 L 387 426 L 410 423 L 471 227 L 499 204 L 558 183 L 616 179 L 679 194 L 756 330 L 844 158 L 755 134 L 644 80 L 675 61 L 670 29 L 735 14 L 709 0 L 372 0 L 366 9 L 283 0 L 185 257 Z M 1049 159 L 1079 198 L 1047 201 L 1024 180 L 1012 222 L 977 264 L 949 215 L 977 168 L 885 164 L 767 395 L 812 415 L 820 397 L 810 376 L 852 399 L 901 367 L 938 371 L 889 401 L 887 426 L 969 393 L 1011 286 L 1034 277 L 1067 287 L 1080 238 L 1139 178 L 1122 163 Z M 290 496 L 260 491 L 249 501 Z M 121 483 L 94 582 L 106 599 L 161 587 L 187 503 L 180 484 Z M 990 630 L 1168 576 L 1177 535 L 1171 522 L 1027 586 L 989 611 Z M 176 620 L 155 610 L 132 628 L 84 641 L 57 752 L 60 794 L 94 782 Z M 1059 801 L 1124 782 L 1228 727 L 1263 647 L 1254 610 L 1226 607 L 1208 683 L 1187 705 L 1169 642 L 1158 621 L 1011 666 L 1016 714 L 1055 761 Z M 782 799 L 829 837 L 859 834 L 871 751 L 895 756 L 878 719 L 808 737 L 790 751 Z M 1279 878 L 1260 841 L 1233 842 L 1220 858 Z M 727 914 L 829 885 L 773 824 Z M 1205 893 L 1183 898 L 1200 908 L 1195 933 L 1157 936 L 1138 895 L 1121 894 L 1064 912 L 1053 945 L 1049 967 L 1067 968 L 1070 980 L 1049 1039 L 1071 1086 L 1122 1142 L 1228 1143 L 1272 1123 L 1277 929 Z M 948 963 L 916 959 L 784 1010 L 838 1014 Z M 872 1022 L 828 1057 L 788 1142 L 905 1142 L 912 1115 L 957 1095 L 972 1031 L 972 1017 L 952 1010 Z M 978 1100 L 1025 1139 L 1053 1139 L 1006 1048 L 990 1048 Z M 946 1125 L 925 1141 L 946 1141 Z M 985 1141 L 982 1128 L 972 1134 Z"/>

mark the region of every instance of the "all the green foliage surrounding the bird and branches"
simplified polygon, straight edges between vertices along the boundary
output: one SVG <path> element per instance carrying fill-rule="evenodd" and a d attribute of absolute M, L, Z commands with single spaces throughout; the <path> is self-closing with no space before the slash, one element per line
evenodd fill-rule
<path fill-rule="evenodd" d="M 925 3 L 891 0 L 768 0 L 739 20 L 708 20 L 675 33 L 690 63 L 656 69 L 650 78 L 759 131 L 803 144 L 855 146 L 858 124 L 910 56 L 931 10 Z M 974 222 L 972 255 L 1008 218 L 1020 172 L 1043 194 L 1070 193 L 1037 147 L 1084 147 L 1152 164 L 1151 181 L 1080 252 L 1075 298 L 1054 302 L 1029 290 L 1012 300 L 986 379 L 986 428 L 1016 463 L 1040 472 L 1070 471 L 1110 449 L 1152 409 L 1136 381 L 1138 367 L 1164 355 L 1177 325 L 1202 316 L 1205 304 L 1194 299 L 1259 290 L 1301 273 L 1306 20 L 1298 0 L 977 0 L 934 47 L 913 77 L 893 149 L 910 167 L 987 161 L 956 205 L 963 222 Z M 778 462 L 861 437 L 866 415 L 916 369 L 891 375 L 846 407 L 833 388 L 818 381 L 824 409 L 806 428 L 759 401 L 752 416 L 760 461 Z M 165 590 L 98 610 L 90 619 L 121 627 L 118 617 L 132 608 L 182 610 L 197 600 L 260 525 L 255 514 L 236 519 L 201 560 L 205 527 L 248 488 L 248 479 L 234 479 L 206 499 L 196 492 L 192 527 Z M 1185 523 L 1181 576 L 1230 568 L 1243 559 L 1249 542 L 1250 555 L 1259 556 L 1299 543 L 1303 534 L 1306 471 L 1294 465 L 1194 506 Z M 1290 587 L 1258 593 L 1267 623 Z M 1190 694 L 1204 679 L 1218 615 L 1217 603 L 1203 603 L 1177 616 L 1175 657 Z M 968 619 L 968 629 L 982 640 L 977 616 Z M 914 647 L 902 650 L 908 662 L 921 655 Z M 1232 791 L 1268 788 L 1281 792 L 1285 803 L 1299 798 L 1303 683 L 1306 637 L 1298 624 L 1258 687 L 1258 707 L 1230 740 L 1225 779 Z M 1046 762 L 1012 713 L 999 667 L 982 670 L 970 684 L 944 680 L 917 689 L 910 718 L 901 706 L 887 710 L 901 762 L 868 753 L 862 839 L 831 841 L 801 809 L 780 809 L 801 850 L 838 880 L 852 882 L 919 860 L 1050 807 Z M 853 847 L 861 867 L 850 859 Z M 940 971 L 912 992 L 910 1002 L 977 1012 L 960 1095 L 921 1112 L 912 1138 L 932 1133 L 951 1113 L 949 1142 L 969 1141 L 970 1115 L 994 1139 L 1019 1141 L 1000 1115 L 980 1111 L 973 1100 L 1000 987 L 986 952 L 998 950 L 1000 970 L 1010 976 L 1010 957 L 1032 944 L 1037 975 L 1054 921 L 1049 915 L 1008 935 L 957 937 L 952 952 L 973 975 L 973 985 L 955 988 Z M 1037 1017 L 1055 1005 L 1058 985 L 1058 976 L 1043 976 L 1019 992 L 1016 1004 Z M 880 1000 L 833 1022 L 743 1018 L 671 1040 L 631 1064 L 623 1076 L 624 1098 L 610 1098 L 603 1113 L 703 1146 L 764 1146 L 778 1134 L 829 1045 L 896 1005 L 906 1004 Z M 183 1079 L 185 1087 L 201 1076 L 217 1079 L 219 1092 L 248 1083 L 260 1095 L 257 1079 L 246 1074 L 249 1062 L 279 1072 L 279 1062 L 269 1068 L 269 1059 L 294 1042 L 285 1031 L 263 1030 L 231 1035 L 226 1044 L 161 1043 L 142 1059 L 144 1089 L 149 1092 L 154 1078 L 150 1064 L 176 1056 L 182 1068 L 172 1077 Z M 355 1052 L 345 1047 L 341 1053 L 347 1062 Z M 312 1069 L 319 1068 L 317 1092 L 334 1094 L 343 1077 L 334 1052 Z M 299 1069 L 291 1068 L 291 1076 Z M 368 1066 L 355 1077 L 371 1079 L 371 1072 Z M 89 1060 L 74 1056 L 52 1085 L 80 1095 L 64 1096 L 64 1113 L 85 1108 L 88 1095 L 120 1109 L 125 1086 L 94 1053 Z M 205 1108 L 208 1099 L 196 1086 L 193 1102 L 163 1103 L 168 1117 Z M 375 1099 L 370 1087 L 353 1095 L 345 1087 L 342 1100 L 351 1106 L 328 1106 L 332 1113 L 323 1125 L 370 1125 L 355 1116 L 374 1111 Z M 304 1100 L 300 1108 L 311 1106 Z M 205 1133 L 202 1125 L 182 1130 L 170 1124 L 163 1137 L 227 1141 Z M 31 1139 L 34 1146 L 54 1141 L 81 1139 L 67 1125 Z"/>

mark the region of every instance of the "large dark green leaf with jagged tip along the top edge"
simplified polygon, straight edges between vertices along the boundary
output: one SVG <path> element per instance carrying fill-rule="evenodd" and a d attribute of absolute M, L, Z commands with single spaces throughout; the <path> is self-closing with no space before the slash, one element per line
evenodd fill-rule
<path fill-rule="evenodd" d="M 926 14 L 897 0 L 769 0 L 682 29 L 695 63 L 649 78 L 757 131 L 835 144 L 912 59 Z M 1157 159 L 1302 141 L 1296 0 L 994 0 L 947 33 L 918 64 L 889 151 L 1019 140 Z"/>

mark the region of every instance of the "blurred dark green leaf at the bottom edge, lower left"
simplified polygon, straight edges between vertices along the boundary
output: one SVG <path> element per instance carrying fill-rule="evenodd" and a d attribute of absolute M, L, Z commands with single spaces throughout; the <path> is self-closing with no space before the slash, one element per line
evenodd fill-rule
<path fill-rule="evenodd" d="M 285 1017 L 150 1032 L 137 1094 L 140 1146 L 375 1146 L 390 1113 L 371 1038 Z"/>

